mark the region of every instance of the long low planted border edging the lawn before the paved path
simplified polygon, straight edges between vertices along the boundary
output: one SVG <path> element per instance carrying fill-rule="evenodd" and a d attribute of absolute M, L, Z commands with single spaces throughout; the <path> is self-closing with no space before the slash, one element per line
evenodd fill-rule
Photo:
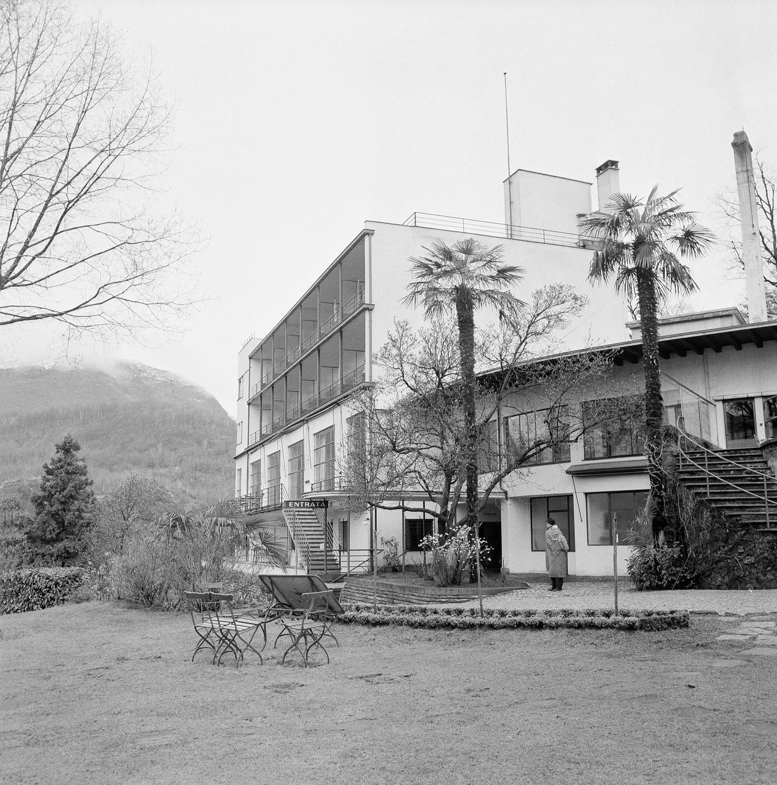
<path fill-rule="evenodd" d="M 555 630 L 559 627 L 572 629 L 611 630 L 674 630 L 687 627 L 690 623 L 688 611 L 614 611 L 590 608 L 572 610 L 513 610 L 489 608 L 481 619 L 477 608 L 438 608 L 428 605 L 378 605 L 374 612 L 372 604 L 353 603 L 343 606 L 345 613 L 340 620 L 347 624 L 423 627 L 428 630 L 440 628 L 470 629 L 483 627 L 494 630 Z"/>

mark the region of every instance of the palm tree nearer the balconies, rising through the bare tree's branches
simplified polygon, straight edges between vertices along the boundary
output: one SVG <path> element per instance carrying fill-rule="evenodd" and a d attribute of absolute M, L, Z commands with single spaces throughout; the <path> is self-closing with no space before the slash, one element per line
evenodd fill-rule
<path fill-rule="evenodd" d="M 427 255 L 411 257 L 414 280 L 408 285 L 407 305 L 423 305 L 429 319 L 455 313 L 459 368 L 464 408 L 463 469 L 467 480 L 467 526 L 477 540 L 477 418 L 475 413 L 475 320 L 478 308 L 509 311 L 520 301 L 508 287 L 521 280 L 523 270 L 502 262 L 502 246 L 487 248 L 467 238 L 448 246 L 437 239 Z M 480 582 L 479 549 L 477 574 Z"/>

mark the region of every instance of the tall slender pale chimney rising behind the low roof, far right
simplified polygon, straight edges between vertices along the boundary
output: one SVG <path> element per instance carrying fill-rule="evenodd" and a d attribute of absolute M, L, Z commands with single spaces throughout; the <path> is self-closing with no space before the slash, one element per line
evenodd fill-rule
<path fill-rule="evenodd" d="M 739 222 L 742 225 L 742 258 L 745 263 L 747 319 L 765 322 L 766 287 L 764 261 L 761 257 L 761 232 L 758 229 L 758 206 L 755 199 L 753 148 L 744 131 L 737 131 L 732 141 L 736 189 L 739 192 Z"/>

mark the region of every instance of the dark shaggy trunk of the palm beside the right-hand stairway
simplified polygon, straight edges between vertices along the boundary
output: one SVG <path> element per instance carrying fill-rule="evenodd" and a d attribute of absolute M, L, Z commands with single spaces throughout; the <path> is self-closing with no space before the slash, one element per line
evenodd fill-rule
<path fill-rule="evenodd" d="M 644 368 L 644 451 L 648 458 L 650 498 L 652 501 L 653 536 L 666 528 L 665 487 L 661 462 L 663 397 L 659 374 L 658 302 L 652 272 L 637 271 L 637 296 L 642 329 L 642 364 Z"/>

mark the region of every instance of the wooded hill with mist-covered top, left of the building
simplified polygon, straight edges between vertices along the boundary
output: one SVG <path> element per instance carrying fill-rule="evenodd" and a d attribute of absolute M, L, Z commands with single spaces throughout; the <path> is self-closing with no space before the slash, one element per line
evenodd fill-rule
<path fill-rule="evenodd" d="M 209 499 L 233 485 L 234 422 L 187 380 L 141 363 L 0 369 L 0 484 L 40 476 L 66 433 L 105 493 L 130 471 Z"/>

